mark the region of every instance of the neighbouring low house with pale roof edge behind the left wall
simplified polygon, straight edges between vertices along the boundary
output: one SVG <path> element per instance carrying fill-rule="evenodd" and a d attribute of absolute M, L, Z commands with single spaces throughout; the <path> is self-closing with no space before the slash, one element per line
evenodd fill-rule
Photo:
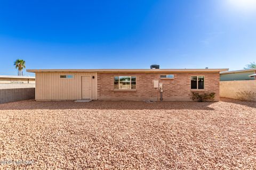
<path fill-rule="evenodd" d="M 35 88 L 35 77 L 0 75 L 0 89 Z"/>

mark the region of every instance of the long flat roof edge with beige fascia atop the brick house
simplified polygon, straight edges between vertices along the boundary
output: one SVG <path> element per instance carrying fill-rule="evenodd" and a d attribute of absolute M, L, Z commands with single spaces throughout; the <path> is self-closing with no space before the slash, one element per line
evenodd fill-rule
<path fill-rule="evenodd" d="M 29 69 L 27 72 L 221 72 L 228 69 Z"/>

